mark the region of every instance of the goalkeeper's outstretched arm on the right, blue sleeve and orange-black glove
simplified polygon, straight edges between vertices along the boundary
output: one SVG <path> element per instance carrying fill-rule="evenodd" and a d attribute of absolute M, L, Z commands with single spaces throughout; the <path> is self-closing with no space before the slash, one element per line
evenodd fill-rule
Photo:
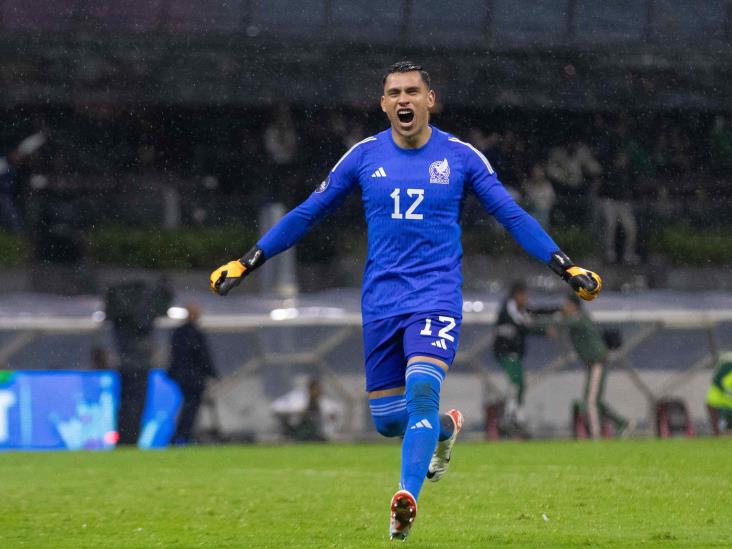
<path fill-rule="evenodd" d="M 468 179 L 485 210 L 529 255 L 548 265 L 579 297 L 586 301 L 595 299 L 602 289 L 600 276 L 569 259 L 539 222 L 511 198 L 481 153 L 472 149 L 466 156 Z"/>

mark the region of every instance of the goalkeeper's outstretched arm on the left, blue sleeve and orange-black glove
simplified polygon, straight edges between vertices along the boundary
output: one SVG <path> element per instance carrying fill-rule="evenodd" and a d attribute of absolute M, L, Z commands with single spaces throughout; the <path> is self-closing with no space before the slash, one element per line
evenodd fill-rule
<path fill-rule="evenodd" d="M 362 142 L 363 143 L 363 142 Z M 357 181 L 360 154 L 354 145 L 325 180 L 295 209 L 287 213 L 241 259 L 229 261 L 210 276 L 211 291 L 228 294 L 264 262 L 295 245 L 316 223 L 337 208 Z"/>

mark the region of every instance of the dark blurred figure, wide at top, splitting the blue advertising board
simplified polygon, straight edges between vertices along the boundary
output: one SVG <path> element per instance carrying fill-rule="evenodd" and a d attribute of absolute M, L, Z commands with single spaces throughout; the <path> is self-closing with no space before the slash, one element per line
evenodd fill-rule
<path fill-rule="evenodd" d="M 155 319 L 168 310 L 172 295 L 165 279 L 157 284 L 132 280 L 111 286 L 105 313 L 112 323 L 122 384 L 117 429 L 120 444 L 136 444 L 147 395 Z"/>

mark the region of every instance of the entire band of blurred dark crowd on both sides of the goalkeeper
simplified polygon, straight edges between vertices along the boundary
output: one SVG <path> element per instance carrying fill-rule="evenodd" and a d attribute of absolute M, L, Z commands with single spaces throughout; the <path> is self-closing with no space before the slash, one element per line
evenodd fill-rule
<path fill-rule="evenodd" d="M 81 105 L 5 118 L 0 222 L 34 235 L 100 223 L 215 225 L 256 218 L 272 201 L 292 207 L 343 152 L 385 127 L 380 112 L 287 105 Z M 456 111 L 434 122 L 480 149 L 550 230 L 601 235 L 608 263 L 643 260 L 639 240 L 654 219 L 725 222 L 732 114 Z M 358 217 L 353 207 L 337 215 Z"/>

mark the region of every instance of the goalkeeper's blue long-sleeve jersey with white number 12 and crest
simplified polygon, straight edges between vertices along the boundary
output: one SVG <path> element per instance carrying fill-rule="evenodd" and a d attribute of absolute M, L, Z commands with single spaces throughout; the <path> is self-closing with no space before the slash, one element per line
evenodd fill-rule
<path fill-rule="evenodd" d="M 354 188 L 368 225 L 364 322 L 414 312 L 462 313 L 460 212 L 472 189 L 488 213 L 532 256 L 559 250 L 506 192 L 485 156 L 432 126 L 419 149 L 402 149 L 391 129 L 354 145 L 310 197 L 257 245 L 266 258 L 295 244 Z"/>

